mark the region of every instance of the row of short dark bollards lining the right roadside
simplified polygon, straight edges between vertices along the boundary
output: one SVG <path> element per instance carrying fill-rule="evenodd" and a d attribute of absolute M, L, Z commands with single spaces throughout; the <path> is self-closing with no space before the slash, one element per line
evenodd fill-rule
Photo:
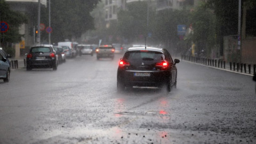
<path fill-rule="evenodd" d="M 200 63 L 202 65 L 210 66 L 210 67 L 218 67 L 226 69 L 226 61 L 222 59 L 207 59 L 207 58 L 200 58 L 200 57 L 191 57 L 188 55 L 181 55 L 182 60 L 187 60 L 194 63 Z M 256 73 L 256 65 L 251 65 L 246 63 L 239 63 L 239 62 L 228 62 L 229 69 L 233 71 L 237 71 L 240 73 L 245 74 L 255 74 Z M 227 65 L 228 66 L 228 65 Z M 253 66 L 253 73 L 251 73 L 251 67 Z"/>

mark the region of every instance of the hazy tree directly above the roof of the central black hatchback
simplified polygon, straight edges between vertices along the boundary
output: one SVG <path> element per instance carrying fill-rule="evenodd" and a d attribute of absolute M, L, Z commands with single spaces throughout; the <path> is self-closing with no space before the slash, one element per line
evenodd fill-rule
<path fill-rule="evenodd" d="M 151 25 L 155 20 L 155 12 L 149 9 L 149 22 L 147 26 L 147 10 L 149 3 L 139 1 L 127 4 L 126 10 L 118 12 L 118 31 L 129 42 L 143 42 L 148 32 L 151 31 Z"/>

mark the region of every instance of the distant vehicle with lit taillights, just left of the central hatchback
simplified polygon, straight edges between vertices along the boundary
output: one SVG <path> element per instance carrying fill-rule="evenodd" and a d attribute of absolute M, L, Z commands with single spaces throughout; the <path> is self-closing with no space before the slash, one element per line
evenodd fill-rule
<path fill-rule="evenodd" d="M 114 59 L 115 48 L 111 44 L 102 44 L 96 49 L 97 59 L 100 58 L 111 58 Z"/>

